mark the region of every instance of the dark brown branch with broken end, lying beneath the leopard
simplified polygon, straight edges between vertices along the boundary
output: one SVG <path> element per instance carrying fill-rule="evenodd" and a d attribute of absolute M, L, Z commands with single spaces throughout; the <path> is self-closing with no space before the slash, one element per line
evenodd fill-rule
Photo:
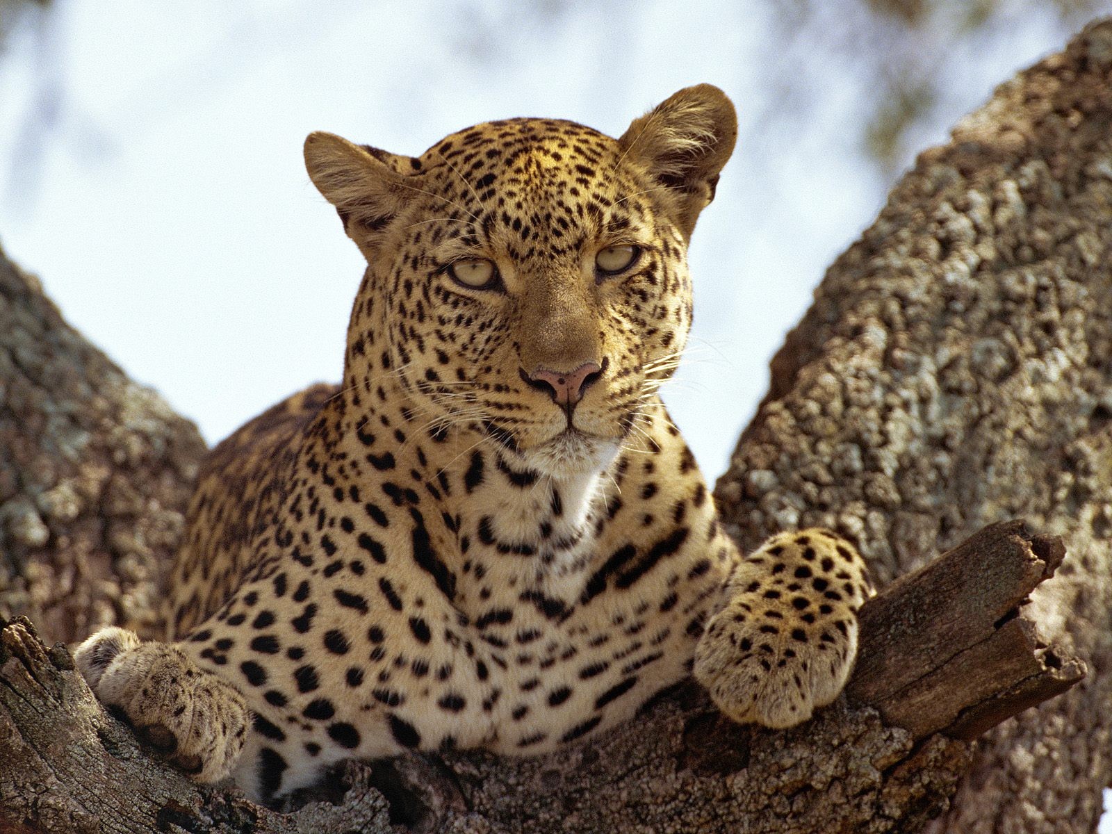
<path fill-rule="evenodd" d="M 1083 676 L 1081 662 L 1042 644 L 1024 605 L 1063 553 L 1060 540 L 1031 536 L 1022 523 L 999 524 L 894 583 L 862 610 L 853 707 L 843 704 L 788 734 L 734 725 L 687 686 L 648 709 L 638 732 L 557 755 L 409 756 L 347 766 L 342 804 L 310 803 L 290 815 L 148 762 L 103 713 L 64 646 L 47 649 L 19 618 L 0 632 L 0 743 L 10 763 L 0 766 L 0 823 L 28 832 L 96 831 L 108 818 L 127 832 L 169 824 L 286 832 L 340 823 L 389 831 L 393 812 L 417 831 L 466 831 L 478 820 L 486 831 L 550 831 L 565 824 L 578 796 L 575 830 L 603 832 L 620 831 L 635 813 L 628 797 L 652 788 L 652 802 L 638 801 L 636 812 L 652 827 L 694 830 L 712 814 L 746 830 L 766 826 L 774 812 L 793 826 L 786 831 L 835 822 L 848 830 L 865 821 L 876 831 L 905 830 L 924 810 L 939 810 L 967 761 L 964 745 L 934 733 L 972 738 Z M 970 658 L 977 674 L 953 677 Z M 645 744 L 646 736 L 655 743 Z M 771 772 L 781 778 L 770 780 Z M 830 785 L 846 780 L 853 793 L 832 802 Z M 321 795 L 308 792 L 300 801 Z M 711 810 L 699 797 L 718 802 Z M 784 813 L 786 802 L 792 807 Z"/>

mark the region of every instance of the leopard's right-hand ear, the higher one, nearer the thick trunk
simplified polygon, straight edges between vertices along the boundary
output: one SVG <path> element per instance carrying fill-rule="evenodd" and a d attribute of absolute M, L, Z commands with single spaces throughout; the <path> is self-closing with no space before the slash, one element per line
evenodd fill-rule
<path fill-rule="evenodd" d="M 618 145 L 626 159 L 665 187 L 681 229 L 691 237 L 736 141 L 737 113 L 726 93 L 696 85 L 634 119 Z"/>

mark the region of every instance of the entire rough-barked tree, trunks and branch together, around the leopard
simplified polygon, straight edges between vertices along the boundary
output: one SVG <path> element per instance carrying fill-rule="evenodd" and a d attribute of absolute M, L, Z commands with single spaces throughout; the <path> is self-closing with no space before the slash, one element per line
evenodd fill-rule
<path fill-rule="evenodd" d="M 0 828 L 888 832 L 953 796 L 935 834 L 1093 831 L 1112 777 L 1110 128 L 1104 22 L 923 153 L 777 354 L 716 489 L 743 545 L 833 526 L 885 583 L 1022 516 L 1069 553 L 1030 605 L 1061 554 L 997 527 L 866 608 L 850 697 L 802 728 L 728 726 L 688 687 L 560 756 L 345 766 L 342 804 L 318 792 L 289 814 L 146 757 L 63 647 L 16 623 L 0 634 Z M 0 612 L 50 639 L 150 633 L 196 431 L 7 264 L 0 347 Z M 1068 687 L 1074 655 L 1085 681 L 971 759 L 961 739 Z"/>

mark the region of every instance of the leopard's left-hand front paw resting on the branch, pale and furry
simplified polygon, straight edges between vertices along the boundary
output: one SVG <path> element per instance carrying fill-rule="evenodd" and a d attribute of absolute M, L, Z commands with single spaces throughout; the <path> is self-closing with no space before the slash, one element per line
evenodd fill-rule
<path fill-rule="evenodd" d="M 198 782 L 229 774 L 250 722 L 235 688 L 166 643 L 102 628 L 73 653 L 78 669 L 106 705 L 123 712 L 136 734 Z"/>

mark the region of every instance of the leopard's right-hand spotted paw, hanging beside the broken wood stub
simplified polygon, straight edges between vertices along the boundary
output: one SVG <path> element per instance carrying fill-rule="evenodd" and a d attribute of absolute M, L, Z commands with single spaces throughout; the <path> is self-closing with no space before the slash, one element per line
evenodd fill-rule
<path fill-rule="evenodd" d="M 737 722 L 790 727 L 830 704 L 857 653 L 872 594 L 856 549 L 821 529 L 765 542 L 731 578 L 695 649 L 695 677 Z"/>

